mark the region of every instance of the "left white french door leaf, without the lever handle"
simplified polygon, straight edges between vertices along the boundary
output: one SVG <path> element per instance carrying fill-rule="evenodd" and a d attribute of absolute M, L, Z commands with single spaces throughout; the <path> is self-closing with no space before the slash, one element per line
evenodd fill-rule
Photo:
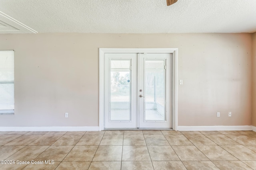
<path fill-rule="evenodd" d="M 137 126 L 137 54 L 104 56 L 104 127 Z"/>

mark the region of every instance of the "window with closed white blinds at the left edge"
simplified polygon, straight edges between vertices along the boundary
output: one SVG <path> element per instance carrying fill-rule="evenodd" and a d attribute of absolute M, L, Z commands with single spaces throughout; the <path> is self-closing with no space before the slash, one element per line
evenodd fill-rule
<path fill-rule="evenodd" d="M 0 114 L 14 113 L 14 51 L 0 50 Z"/>

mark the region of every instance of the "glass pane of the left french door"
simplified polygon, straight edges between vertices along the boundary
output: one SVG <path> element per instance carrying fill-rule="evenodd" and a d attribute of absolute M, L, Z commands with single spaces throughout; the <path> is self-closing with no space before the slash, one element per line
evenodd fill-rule
<path fill-rule="evenodd" d="M 130 60 L 111 60 L 110 120 L 130 120 Z"/>

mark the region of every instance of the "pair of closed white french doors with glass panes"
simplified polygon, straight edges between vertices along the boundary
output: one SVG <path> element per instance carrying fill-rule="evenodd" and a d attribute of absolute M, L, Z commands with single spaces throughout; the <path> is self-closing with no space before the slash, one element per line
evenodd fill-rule
<path fill-rule="evenodd" d="M 105 53 L 104 128 L 171 128 L 171 81 L 170 53 Z"/>

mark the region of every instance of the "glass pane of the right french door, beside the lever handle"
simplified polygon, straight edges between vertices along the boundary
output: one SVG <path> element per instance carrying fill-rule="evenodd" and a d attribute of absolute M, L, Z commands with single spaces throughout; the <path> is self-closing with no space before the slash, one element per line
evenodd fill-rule
<path fill-rule="evenodd" d="M 164 60 L 145 60 L 145 120 L 166 120 L 164 65 Z"/>

